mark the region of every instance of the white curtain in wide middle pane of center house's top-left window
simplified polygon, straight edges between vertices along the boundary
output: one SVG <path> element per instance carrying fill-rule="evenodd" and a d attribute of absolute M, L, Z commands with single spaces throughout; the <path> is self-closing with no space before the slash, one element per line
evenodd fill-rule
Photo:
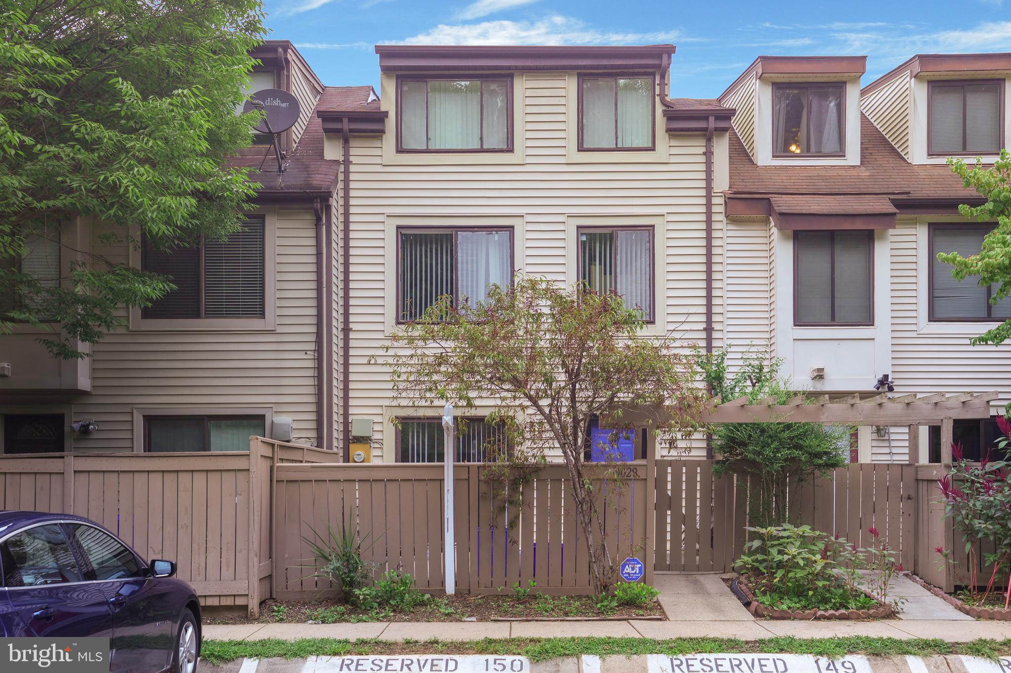
<path fill-rule="evenodd" d="M 481 147 L 480 81 L 429 82 L 429 149 Z"/>

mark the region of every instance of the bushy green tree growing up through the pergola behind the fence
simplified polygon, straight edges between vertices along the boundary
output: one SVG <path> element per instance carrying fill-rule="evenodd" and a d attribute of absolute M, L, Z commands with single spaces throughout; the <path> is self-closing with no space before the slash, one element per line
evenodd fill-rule
<path fill-rule="evenodd" d="M 779 375 L 780 361 L 763 349 L 745 352 L 737 371 L 727 375 L 726 352 L 700 360 L 703 378 L 723 401 L 747 397 L 749 404 L 787 404 L 798 396 Z M 718 456 L 713 471 L 753 475 L 758 488 L 752 493 L 749 522 L 783 525 L 791 511 L 789 494 L 796 485 L 846 464 L 849 425 L 789 422 L 788 419 L 750 423 L 717 423 L 713 451 Z"/>

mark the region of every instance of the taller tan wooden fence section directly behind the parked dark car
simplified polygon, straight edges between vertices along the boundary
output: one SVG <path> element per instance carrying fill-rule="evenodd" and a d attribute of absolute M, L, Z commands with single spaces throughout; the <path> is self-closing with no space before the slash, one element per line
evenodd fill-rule
<path fill-rule="evenodd" d="M 203 605 L 273 592 L 271 491 L 276 462 L 332 452 L 257 439 L 249 452 L 0 457 L 0 504 L 87 516 L 145 559 L 175 561 Z"/>

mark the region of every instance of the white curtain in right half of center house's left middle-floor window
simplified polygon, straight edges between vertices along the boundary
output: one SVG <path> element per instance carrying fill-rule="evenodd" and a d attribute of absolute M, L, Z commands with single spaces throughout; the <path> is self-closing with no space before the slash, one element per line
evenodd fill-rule
<path fill-rule="evenodd" d="M 458 305 L 476 305 L 488 298 L 488 286 L 509 287 L 513 255 L 508 231 L 457 233 Z"/>

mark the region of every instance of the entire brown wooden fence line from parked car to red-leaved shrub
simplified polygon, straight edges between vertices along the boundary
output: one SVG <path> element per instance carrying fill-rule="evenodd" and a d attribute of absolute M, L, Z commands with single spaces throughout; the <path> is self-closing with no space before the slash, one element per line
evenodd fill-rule
<path fill-rule="evenodd" d="M 425 591 L 445 590 L 443 467 L 335 458 L 261 438 L 249 452 L 228 454 L 0 456 L 0 505 L 92 518 L 145 558 L 176 561 L 205 605 L 245 606 L 251 614 L 264 598 L 332 591 L 314 576 L 306 540 L 342 522 L 363 540 L 376 575 L 399 569 Z M 839 468 L 788 489 L 792 514 L 861 547 L 875 527 L 905 568 L 950 588 L 964 581 L 967 561 L 941 519 L 939 467 Z M 711 461 L 651 458 L 611 466 L 619 487 L 605 481 L 604 469 L 594 493 L 614 565 L 642 560 L 646 582 L 654 571 L 733 568 L 747 540 L 753 479 L 715 478 Z M 538 472 L 519 511 L 495 502 L 483 470 L 454 468 L 457 590 L 497 593 L 532 580 L 548 594 L 591 593 L 564 466 Z M 954 570 L 937 563 L 938 546 L 953 552 Z"/>

